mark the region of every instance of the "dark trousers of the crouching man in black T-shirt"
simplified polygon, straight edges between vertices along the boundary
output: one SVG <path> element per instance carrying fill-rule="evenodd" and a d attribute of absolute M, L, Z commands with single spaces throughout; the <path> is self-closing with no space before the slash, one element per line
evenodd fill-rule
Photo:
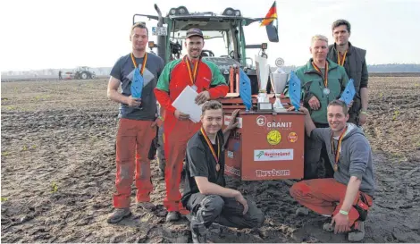
<path fill-rule="evenodd" d="M 212 223 L 243 229 L 256 228 L 265 221 L 263 212 L 252 201 L 248 202 L 248 212 L 243 215 L 244 206 L 235 198 L 223 198 L 217 195 L 192 194 L 187 209 L 194 215 L 197 224 L 208 228 Z"/>

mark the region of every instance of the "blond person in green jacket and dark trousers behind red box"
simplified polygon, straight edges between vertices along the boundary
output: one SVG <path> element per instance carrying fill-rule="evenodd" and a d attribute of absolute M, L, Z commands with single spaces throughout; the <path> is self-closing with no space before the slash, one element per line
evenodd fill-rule
<path fill-rule="evenodd" d="M 309 48 L 312 58 L 296 71 L 302 86 L 303 105 L 309 110 L 316 128 L 328 128 L 327 106 L 340 98 L 349 78 L 344 68 L 327 59 L 328 38 L 316 35 Z M 321 151 L 322 150 L 322 151 Z M 306 137 L 304 179 L 318 178 L 318 161 L 323 158 L 324 176 L 332 177 L 332 166 L 323 143 Z"/>

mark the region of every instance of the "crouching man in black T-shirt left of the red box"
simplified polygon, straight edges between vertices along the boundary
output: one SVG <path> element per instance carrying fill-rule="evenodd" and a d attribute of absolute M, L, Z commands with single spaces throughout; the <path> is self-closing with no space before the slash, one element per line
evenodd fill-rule
<path fill-rule="evenodd" d="M 222 130 L 222 104 L 208 101 L 202 106 L 202 128 L 189 139 L 186 156 L 186 178 L 182 205 L 191 214 L 190 228 L 194 243 L 207 241 L 207 228 L 219 223 L 234 228 L 255 228 L 265 221 L 255 203 L 245 199 L 236 189 L 225 187 L 224 145 L 231 130 L 236 128 L 236 116 Z"/>

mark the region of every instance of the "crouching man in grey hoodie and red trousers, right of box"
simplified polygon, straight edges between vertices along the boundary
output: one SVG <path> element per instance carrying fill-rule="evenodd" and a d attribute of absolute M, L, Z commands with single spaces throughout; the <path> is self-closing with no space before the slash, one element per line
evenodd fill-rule
<path fill-rule="evenodd" d="M 291 108 L 293 109 L 293 108 Z M 327 145 L 334 178 L 299 181 L 290 189 L 290 195 L 301 205 L 320 215 L 332 216 L 324 223 L 324 231 L 349 232 L 349 241 L 365 237 L 364 221 L 374 196 L 374 166 L 369 142 L 362 130 L 348 123 L 346 104 L 332 101 L 327 107 L 329 128 L 315 128 L 307 108 L 307 136 Z"/>

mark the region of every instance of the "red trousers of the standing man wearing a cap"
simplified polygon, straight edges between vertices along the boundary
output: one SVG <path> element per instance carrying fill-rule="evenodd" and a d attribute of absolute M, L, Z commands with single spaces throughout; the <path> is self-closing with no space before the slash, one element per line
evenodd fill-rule
<path fill-rule="evenodd" d="M 181 211 L 185 213 L 181 203 L 181 172 L 182 162 L 185 158 L 187 142 L 196 133 L 201 122 L 175 120 L 174 124 L 165 120 L 164 124 L 164 154 L 166 165 L 164 178 L 166 183 L 166 198 L 164 206 L 168 211 Z"/>

